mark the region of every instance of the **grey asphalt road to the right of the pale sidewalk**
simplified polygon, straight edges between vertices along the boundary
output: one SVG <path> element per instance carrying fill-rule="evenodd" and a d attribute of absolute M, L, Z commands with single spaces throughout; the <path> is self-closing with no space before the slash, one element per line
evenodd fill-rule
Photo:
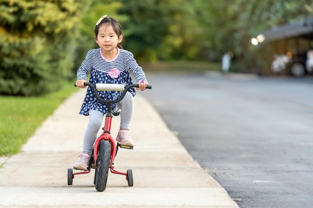
<path fill-rule="evenodd" d="M 152 74 L 145 98 L 240 208 L 313 206 L 313 78 Z"/>

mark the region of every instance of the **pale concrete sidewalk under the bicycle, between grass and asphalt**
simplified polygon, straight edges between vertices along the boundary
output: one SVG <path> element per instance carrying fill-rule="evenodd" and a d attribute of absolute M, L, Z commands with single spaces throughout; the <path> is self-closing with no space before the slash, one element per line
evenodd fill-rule
<path fill-rule="evenodd" d="M 225 190 L 190 157 L 159 114 L 135 96 L 131 123 L 134 149 L 119 149 L 116 171 L 132 169 L 133 187 L 109 173 L 106 190 L 97 192 L 94 170 L 76 175 L 67 186 L 67 168 L 81 151 L 87 116 L 78 115 L 85 90 L 65 100 L 0 169 L 0 208 L 238 208 Z M 116 136 L 119 117 L 113 117 Z"/>

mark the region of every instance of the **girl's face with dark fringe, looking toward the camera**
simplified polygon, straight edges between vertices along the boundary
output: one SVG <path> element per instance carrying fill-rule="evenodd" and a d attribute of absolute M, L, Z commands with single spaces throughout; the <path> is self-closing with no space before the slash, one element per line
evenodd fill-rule
<path fill-rule="evenodd" d="M 97 36 L 94 36 L 95 42 L 99 45 L 103 52 L 115 51 L 117 43 L 120 43 L 123 36 L 118 36 L 112 25 L 101 24 Z"/>

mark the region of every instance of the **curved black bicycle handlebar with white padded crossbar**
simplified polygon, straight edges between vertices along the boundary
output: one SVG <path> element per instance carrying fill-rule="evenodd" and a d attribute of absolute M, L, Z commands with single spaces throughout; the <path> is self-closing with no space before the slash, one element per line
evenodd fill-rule
<path fill-rule="evenodd" d="M 130 84 L 127 86 L 125 86 L 123 84 L 96 84 L 96 85 L 94 85 L 90 82 L 85 82 L 85 83 L 83 83 L 83 85 L 91 87 L 91 89 L 93 90 L 95 98 L 102 103 L 118 103 L 124 98 L 126 92 L 130 88 L 139 87 L 138 84 Z M 76 83 L 74 84 L 74 86 L 76 87 Z M 145 89 L 151 89 L 151 88 L 152 88 L 151 85 L 147 85 L 145 87 Z M 121 91 L 122 93 L 119 96 L 119 98 L 116 100 L 105 100 L 105 99 L 102 99 L 98 93 L 96 93 L 97 90 L 99 90 L 99 91 Z"/>

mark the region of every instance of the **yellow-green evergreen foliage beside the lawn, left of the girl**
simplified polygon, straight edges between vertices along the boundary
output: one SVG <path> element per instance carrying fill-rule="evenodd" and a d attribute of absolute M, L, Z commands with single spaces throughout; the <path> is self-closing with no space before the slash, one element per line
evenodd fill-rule
<path fill-rule="evenodd" d="M 78 0 L 0 1 L 0 94 L 39 95 L 71 75 Z"/>

